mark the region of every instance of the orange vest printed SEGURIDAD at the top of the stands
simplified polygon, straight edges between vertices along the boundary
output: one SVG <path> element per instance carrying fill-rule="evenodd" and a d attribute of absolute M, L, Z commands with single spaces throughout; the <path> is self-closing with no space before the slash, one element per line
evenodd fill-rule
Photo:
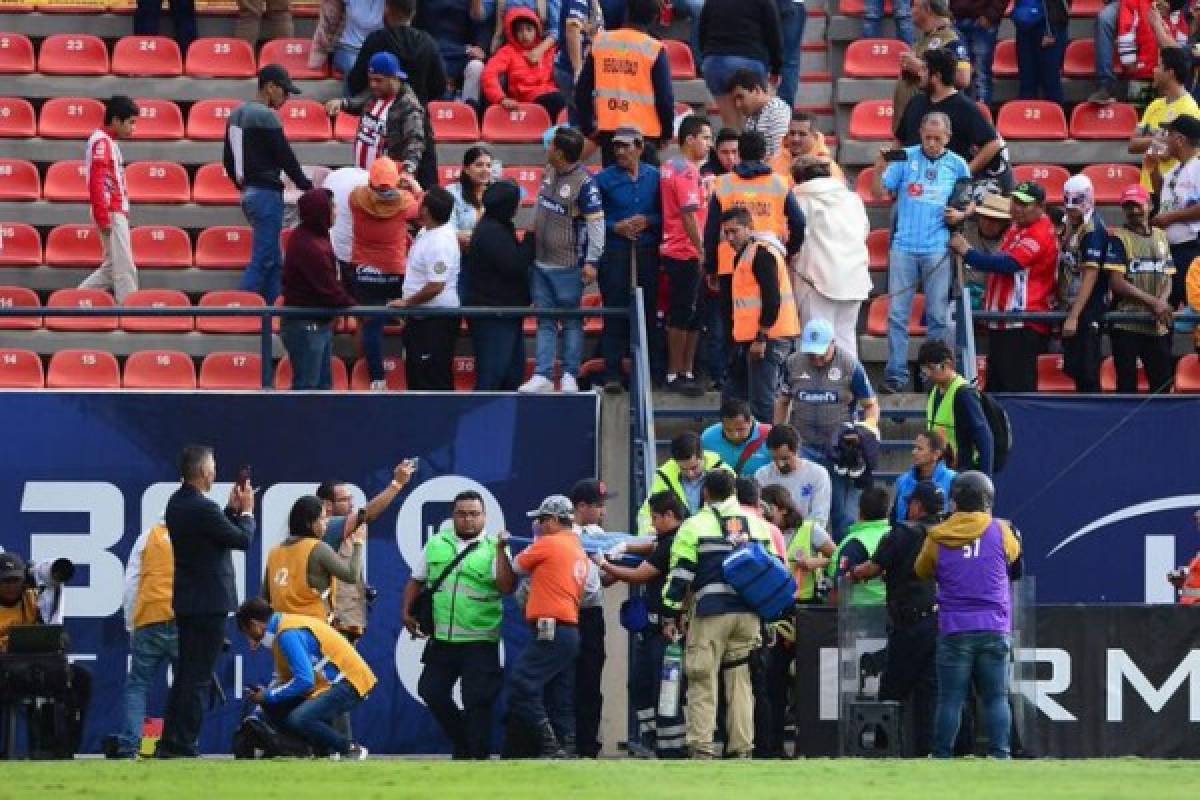
<path fill-rule="evenodd" d="M 612 133 L 637 126 L 648 139 L 662 136 L 654 107 L 654 62 L 662 42 L 629 28 L 604 31 L 592 42 L 596 128 Z"/>

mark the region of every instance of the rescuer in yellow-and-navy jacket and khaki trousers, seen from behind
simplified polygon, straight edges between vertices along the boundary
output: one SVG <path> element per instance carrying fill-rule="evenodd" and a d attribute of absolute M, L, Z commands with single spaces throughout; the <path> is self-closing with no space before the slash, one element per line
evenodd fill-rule
<path fill-rule="evenodd" d="M 775 552 L 764 519 L 746 515 L 734 493 L 732 473 L 704 476 L 706 507 L 688 519 L 671 546 L 671 573 L 662 590 L 662 634 L 673 638 L 689 593 L 695 601 L 684 674 L 688 679 L 688 748 L 692 758 L 715 756 L 718 676 L 727 703 L 725 756 L 749 758 L 754 750 L 754 691 L 750 654 L 762 644 L 761 620 L 725 583 L 722 564 L 736 543 L 752 539 Z"/>

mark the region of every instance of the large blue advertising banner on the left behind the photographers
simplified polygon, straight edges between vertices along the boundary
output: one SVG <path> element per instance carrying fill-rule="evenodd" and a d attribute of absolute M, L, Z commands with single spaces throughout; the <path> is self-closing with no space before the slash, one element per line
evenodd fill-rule
<path fill-rule="evenodd" d="M 35 561 L 78 565 L 66 593 L 71 652 L 95 679 L 84 748 L 122 726 L 128 634 L 121 610 L 124 565 L 138 535 L 161 516 L 178 483 L 186 444 L 216 449 L 224 504 L 240 464 L 253 467 L 258 535 L 235 554 L 239 593 L 259 593 L 266 553 L 287 534 L 292 504 L 323 480 L 350 483 L 355 509 L 391 481 L 401 459 L 420 464 L 412 485 L 371 525 L 367 582 L 379 591 L 360 650 L 379 686 L 355 714 L 372 751 L 445 752 L 416 696 L 422 642 L 403 632 L 401 596 L 413 559 L 449 518 L 463 489 L 485 499 L 486 530 L 529 535 L 524 512 L 594 476 L 598 401 L 514 395 L 334 395 L 0 392 L 8 421 L 0 464 L 0 548 Z M 506 609 L 504 657 L 528 634 Z M 268 682 L 271 658 L 251 651 L 229 625 L 218 675 L 227 700 L 209 714 L 204 752 L 228 752 L 244 711 L 242 687 Z M 164 681 L 150 711 L 161 715 Z"/>

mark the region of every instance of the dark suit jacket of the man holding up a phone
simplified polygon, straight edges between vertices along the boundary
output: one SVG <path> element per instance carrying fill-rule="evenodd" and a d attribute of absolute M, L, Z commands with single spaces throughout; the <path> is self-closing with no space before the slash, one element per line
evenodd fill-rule
<path fill-rule="evenodd" d="M 164 515 L 175 554 L 175 615 L 227 614 L 238 608 L 232 551 L 254 539 L 254 517 L 224 512 L 192 486 L 170 495 Z"/>

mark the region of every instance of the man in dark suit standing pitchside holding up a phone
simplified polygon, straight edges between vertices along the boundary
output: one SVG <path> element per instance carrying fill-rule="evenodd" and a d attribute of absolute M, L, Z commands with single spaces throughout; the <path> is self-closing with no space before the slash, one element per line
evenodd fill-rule
<path fill-rule="evenodd" d="M 205 497 L 217 474 L 211 447 L 184 447 L 179 473 L 184 485 L 170 495 L 166 513 L 175 553 L 179 672 L 167 702 L 160 758 L 199 756 L 197 739 L 224 644 L 226 616 L 238 608 L 230 552 L 245 551 L 254 537 L 254 492 L 248 485 L 234 486 L 223 513 Z"/>

